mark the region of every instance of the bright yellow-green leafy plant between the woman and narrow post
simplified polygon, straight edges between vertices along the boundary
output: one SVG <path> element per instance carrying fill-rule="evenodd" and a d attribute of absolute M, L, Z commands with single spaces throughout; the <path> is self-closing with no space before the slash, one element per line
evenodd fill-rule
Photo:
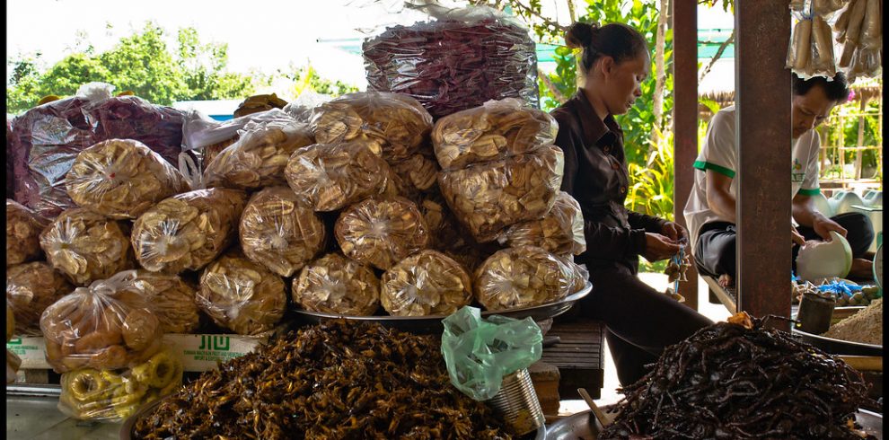
<path fill-rule="evenodd" d="M 665 133 L 645 163 L 629 163 L 627 208 L 673 220 L 673 134 Z"/>

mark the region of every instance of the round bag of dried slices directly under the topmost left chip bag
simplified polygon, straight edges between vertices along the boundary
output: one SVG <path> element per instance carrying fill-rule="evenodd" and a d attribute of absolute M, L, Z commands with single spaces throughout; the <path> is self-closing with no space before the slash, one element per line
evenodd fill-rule
<path fill-rule="evenodd" d="M 53 268 L 76 285 L 134 268 L 129 224 L 75 207 L 67 209 L 40 234 L 40 247 Z"/>

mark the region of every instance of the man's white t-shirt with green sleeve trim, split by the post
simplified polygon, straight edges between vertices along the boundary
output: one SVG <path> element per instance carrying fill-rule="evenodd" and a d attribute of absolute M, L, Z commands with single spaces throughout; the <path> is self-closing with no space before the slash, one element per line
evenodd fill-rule
<path fill-rule="evenodd" d="M 790 170 L 792 195 L 806 194 L 814 196 L 821 190 L 818 186 L 818 152 L 821 139 L 814 130 L 806 131 L 799 136 L 793 145 L 793 165 Z M 730 194 L 736 197 L 737 154 L 735 154 L 735 106 L 719 110 L 710 119 L 704 145 L 695 160 L 694 186 L 691 197 L 685 205 L 685 222 L 689 226 L 692 245 L 698 242 L 698 231 L 710 222 L 726 222 L 707 204 L 707 170 L 724 174 L 732 179 Z"/>

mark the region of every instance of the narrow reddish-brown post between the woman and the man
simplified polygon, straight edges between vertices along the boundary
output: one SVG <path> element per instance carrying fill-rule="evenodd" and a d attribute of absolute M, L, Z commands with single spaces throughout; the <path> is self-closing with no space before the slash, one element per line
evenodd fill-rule
<path fill-rule="evenodd" d="M 673 216 L 688 227 L 682 210 L 694 184 L 698 156 L 698 2 L 673 1 Z M 689 231 L 689 233 L 693 233 Z M 691 251 L 689 249 L 688 251 Z M 685 305 L 698 310 L 698 269 L 692 264 L 679 284 Z"/>

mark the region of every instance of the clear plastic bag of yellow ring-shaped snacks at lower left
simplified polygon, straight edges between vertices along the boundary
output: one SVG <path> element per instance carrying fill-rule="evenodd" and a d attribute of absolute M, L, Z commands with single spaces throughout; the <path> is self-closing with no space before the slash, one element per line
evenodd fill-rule
<path fill-rule="evenodd" d="M 62 374 L 58 409 L 80 420 L 123 420 L 179 390 L 182 373 L 182 362 L 168 349 L 131 369 L 80 368 Z"/>

